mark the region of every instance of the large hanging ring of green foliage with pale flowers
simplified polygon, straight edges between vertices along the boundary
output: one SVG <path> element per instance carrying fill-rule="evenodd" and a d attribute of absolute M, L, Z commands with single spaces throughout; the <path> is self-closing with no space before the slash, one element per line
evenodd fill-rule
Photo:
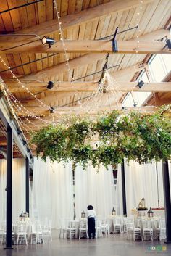
<path fill-rule="evenodd" d="M 117 165 L 128 161 L 151 162 L 171 156 L 171 120 L 164 109 L 150 114 L 119 112 L 88 118 L 74 117 L 67 125 L 50 125 L 33 134 L 36 154 L 46 161 L 73 160 L 83 168 L 101 163 Z"/>

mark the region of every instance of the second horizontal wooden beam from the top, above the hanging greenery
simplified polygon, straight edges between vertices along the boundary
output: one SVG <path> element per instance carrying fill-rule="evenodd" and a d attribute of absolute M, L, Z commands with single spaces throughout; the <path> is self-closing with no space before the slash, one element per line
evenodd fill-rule
<path fill-rule="evenodd" d="M 25 88 L 18 86 L 18 83 L 14 81 L 6 82 L 9 91 L 12 94 L 25 93 Z M 61 93 L 61 92 L 81 92 L 81 91 L 98 91 L 98 82 L 59 82 L 54 84 L 54 88 L 51 90 L 47 89 L 47 83 L 23 83 L 33 93 L 48 92 L 49 94 Z M 160 82 L 160 83 L 144 83 L 143 87 L 139 88 L 136 82 L 123 82 L 118 80 L 114 82 L 109 91 L 147 91 L 147 92 L 169 92 L 171 91 L 171 82 Z"/>

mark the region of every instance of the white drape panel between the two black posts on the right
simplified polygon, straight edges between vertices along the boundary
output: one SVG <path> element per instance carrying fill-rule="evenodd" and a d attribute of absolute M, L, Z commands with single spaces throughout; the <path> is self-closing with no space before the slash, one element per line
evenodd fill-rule
<path fill-rule="evenodd" d="M 158 207 L 156 163 L 139 165 L 138 162 L 125 162 L 126 202 L 128 215 L 138 207 L 144 197 L 146 207 Z"/>

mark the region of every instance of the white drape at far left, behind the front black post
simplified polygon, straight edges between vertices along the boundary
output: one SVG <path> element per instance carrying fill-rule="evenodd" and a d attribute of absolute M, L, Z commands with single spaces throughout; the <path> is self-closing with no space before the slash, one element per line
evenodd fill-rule
<path fill-rule="evenodd" d="M 0 160 L 0 222 L 6 220 L 7 161 Z M 25 160 L 12 160 L 12 220 L 25 212 Z"/>

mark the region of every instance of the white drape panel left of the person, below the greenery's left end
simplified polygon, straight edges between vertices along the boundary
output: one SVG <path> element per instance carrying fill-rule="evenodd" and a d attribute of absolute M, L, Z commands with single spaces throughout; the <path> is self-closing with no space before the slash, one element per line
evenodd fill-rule
<path fill-rule="evenodd" d="M 52 228 L 59 227 L 61 218 L 73 218 L 72 162 L 51 165 L 35 158 L 31 202 L 32 217 L 51 220 Z"/>

